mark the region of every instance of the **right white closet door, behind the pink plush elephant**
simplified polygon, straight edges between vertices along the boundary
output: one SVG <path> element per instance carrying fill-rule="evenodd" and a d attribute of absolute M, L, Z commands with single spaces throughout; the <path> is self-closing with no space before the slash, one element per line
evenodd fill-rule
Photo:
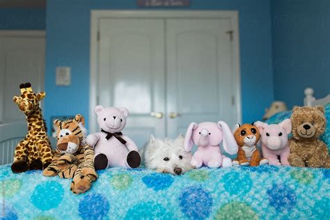
<path fill-rule="evenodd" d="M 191 122 L 237 123 L 230 19 L 167 19 L 168 136 Z"/>

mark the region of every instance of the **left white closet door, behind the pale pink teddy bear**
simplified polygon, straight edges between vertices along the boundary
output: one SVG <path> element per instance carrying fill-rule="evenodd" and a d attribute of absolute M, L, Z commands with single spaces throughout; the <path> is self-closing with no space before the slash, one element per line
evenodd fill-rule
<path fill-rule="evenodd" d="M 150 116 L 165 109 L 164 21 L 100 19 L 99 52 L 99 104 L 129 109 L 123 133 L 139 147 L 165 136 L 165 118 Z"/>

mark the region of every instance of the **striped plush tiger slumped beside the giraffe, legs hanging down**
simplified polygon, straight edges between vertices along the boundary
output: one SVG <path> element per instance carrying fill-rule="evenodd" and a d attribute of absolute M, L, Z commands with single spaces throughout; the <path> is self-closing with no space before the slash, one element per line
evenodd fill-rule
<path fill-rule="evenodd" d="M 57 145 L 53 152 L 53 161 L 43 175 L 60 178 L 73 178 L 71 191 L 80 194 L 91 188 L 91 182 L 97 179 L 94 168 L 94 150 L 86 144 L 85 119 L 81 115 L 70 120 L 54 120 Z"/>

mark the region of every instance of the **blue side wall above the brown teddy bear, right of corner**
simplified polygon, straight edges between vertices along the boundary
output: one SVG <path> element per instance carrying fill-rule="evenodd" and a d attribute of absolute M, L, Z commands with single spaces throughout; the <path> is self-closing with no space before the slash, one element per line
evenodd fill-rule
<path fill-rule="evenodd" d="M 330 1 L 272 0 L 274 98 L 302 105 L 330 93 Z"/>

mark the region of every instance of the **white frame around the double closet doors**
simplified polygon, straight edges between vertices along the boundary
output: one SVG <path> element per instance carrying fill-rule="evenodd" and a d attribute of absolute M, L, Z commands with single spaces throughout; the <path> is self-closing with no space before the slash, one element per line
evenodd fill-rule
<path fill-rule="evenodd" d="M 90 91 L 89 91 L 89 130 L 96 132 L 96 116 L 94 107 L 97 103 L 97 35 L 100 31 L 101 18 L 200 18 L 219 19 L 230 18 L 233 27 L 233 79 L 238 83 L 235 85 L 235 98 L 237 108 L 237 122 L 242 123 L 241 103 L 241 81 L 240 81 L 240 60 L 239 60 L 239 20 L 236 10 L 91 10 L 91 52 L 90 52 Z"/>

